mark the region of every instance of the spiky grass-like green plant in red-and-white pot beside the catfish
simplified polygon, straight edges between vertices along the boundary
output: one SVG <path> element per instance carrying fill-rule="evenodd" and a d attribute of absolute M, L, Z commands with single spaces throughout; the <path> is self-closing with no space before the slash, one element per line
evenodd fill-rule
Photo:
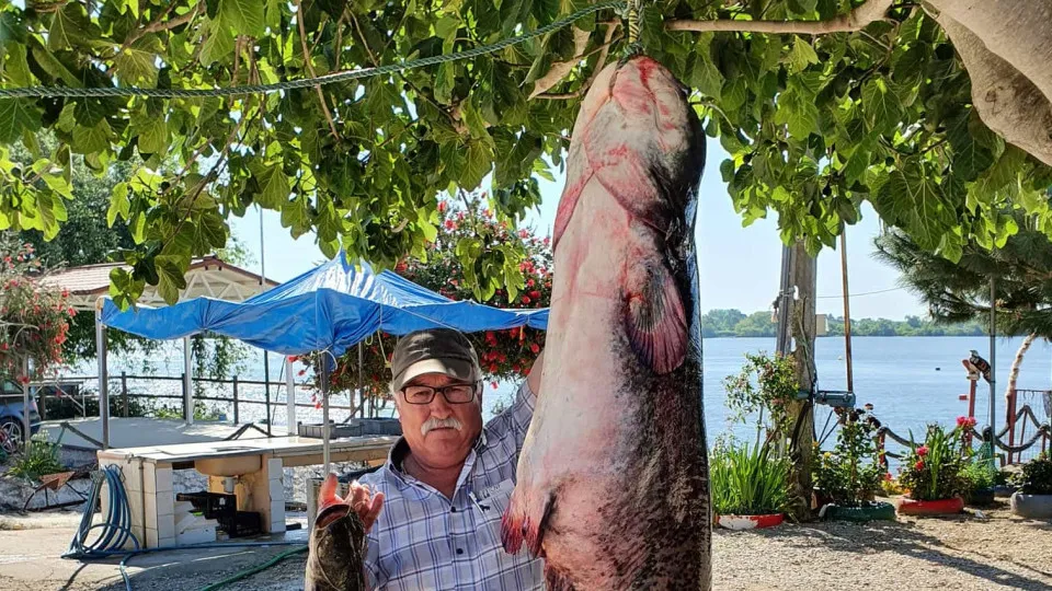
<path fill-rule="evenodd" d="M 718 442 L 709 460 L 716 522 L 730 530 L 781 523 L 792 503 L 791 466 L 767 444 Z"/>

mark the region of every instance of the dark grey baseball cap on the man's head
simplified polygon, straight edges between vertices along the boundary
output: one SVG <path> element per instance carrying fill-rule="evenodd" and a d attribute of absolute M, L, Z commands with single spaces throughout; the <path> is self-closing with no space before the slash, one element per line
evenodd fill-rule
<path fill-rule="evenodd" d="M 425 373 L 444 373 L 453 379 L 476 382 L 482 371 L 471 341 L 453 328 L 427 328 L 398 340 L 391 356 L 391 390 Z"/>

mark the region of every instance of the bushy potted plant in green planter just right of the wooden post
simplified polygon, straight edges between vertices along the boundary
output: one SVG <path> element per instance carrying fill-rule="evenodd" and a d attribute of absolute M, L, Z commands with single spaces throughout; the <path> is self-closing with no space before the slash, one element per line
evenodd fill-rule
<path fill-rule="evenodd" d="M 844 413 L 836 445 L 815 454 L 814 484 L 826 519 L 893 520 L 895 509 L 874 500 L 884 471 L 877 453 L 877 422 L 861 409 Z"/>

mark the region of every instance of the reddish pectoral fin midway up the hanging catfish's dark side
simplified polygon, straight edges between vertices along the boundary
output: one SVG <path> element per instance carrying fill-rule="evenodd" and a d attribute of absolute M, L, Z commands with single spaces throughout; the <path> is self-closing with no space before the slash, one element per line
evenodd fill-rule
<path fill-rule="evenodd" d="M 663 266 L 639 265 L 631 271 L 627 329 L 632 350 L 655 373 L 670 373 L 687 356 L 687 317 L 672 274 Z"/>

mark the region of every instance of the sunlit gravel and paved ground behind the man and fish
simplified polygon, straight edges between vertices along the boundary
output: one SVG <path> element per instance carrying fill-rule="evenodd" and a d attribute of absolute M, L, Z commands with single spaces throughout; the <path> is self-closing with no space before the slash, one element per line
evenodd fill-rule
<path fill-rule="evenodd" d="M 728 532 L 713 536 L 713 588 L 733 590 L 926 590 L 926 589 L 1052 589 L 1052 523 L 1026 521 L 1011 515 L 1002 502 L 991 510 L 952 518 L 851 524 L 843 522 L 785 524 L 770 530 Z M 43 518 L 24 518 L 4 526 L 0 519 L 0 547 L 20 547 L 28 558 L 34 552 L 15 545 L 12 536 L 32 534 L 44 543 L 53 533 L 65 549 L 71 529 L 48 518 L 44 532 L 20 531 Z M 26 524 L 26 521 L 32 523 Z M 55 529 L 59 528 L 59 529 Z M 68 525 L 67 525 L 68 528 Z M 4 531 L 8 530 L 8 531 Z M 15 530 L 15 531 L 10 531 Z M 301 535 L 302 533 L 300 533 Z M 133 563 L 136 591 L 201 589 L 241 569 L 281 554 L 287 548 L 263 548 L 217 556 L 168 554 L 137 558 Z M 0 553 L 2 554 L 2 553 Z M 180 553 L 182 554 L 182 553 Z M 225 589 L 286 591 L 302 589 L 305 555 Z M 0 559 L 0 588 L 53 590 L 56 588 L 118 591 L 115 567 L 79 565 L 57 557 L 20 575 L 19 557 Z M 26 565 L 28 566 L 28 565 Z M 142 569 L 142 570 L 139 570 Z M 47 572 L 48 575 L 42 575 Z"/>

